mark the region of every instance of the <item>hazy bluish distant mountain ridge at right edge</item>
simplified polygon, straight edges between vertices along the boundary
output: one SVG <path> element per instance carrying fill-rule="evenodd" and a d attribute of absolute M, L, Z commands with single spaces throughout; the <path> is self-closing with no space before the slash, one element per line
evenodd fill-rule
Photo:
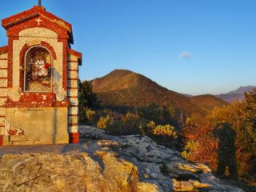
<path fill-rule="evenodd" d="M 222 98 L 224 101 L 229 103 L 234 101 L 241 102 L 244 99 L 244 93 L 250 92 L 255 88 L 256 86 L 240 86 L 237 90 L 230 91 L 226 94 L 218 94 L 215 96 L 218 98 Z"/>

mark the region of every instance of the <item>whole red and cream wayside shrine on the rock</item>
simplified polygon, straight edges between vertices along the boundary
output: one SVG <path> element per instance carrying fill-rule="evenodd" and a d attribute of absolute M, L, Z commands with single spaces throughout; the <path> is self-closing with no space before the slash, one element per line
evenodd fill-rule
<path fill-rule="evenodd" d="M 34 6 L 2 19 L 0 146 L 78 143 L 78 66 L 70 23 Z"/>

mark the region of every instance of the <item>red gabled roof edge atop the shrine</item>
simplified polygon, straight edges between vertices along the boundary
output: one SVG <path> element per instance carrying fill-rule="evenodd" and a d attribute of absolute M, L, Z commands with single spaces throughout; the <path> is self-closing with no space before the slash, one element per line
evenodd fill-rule
<path fill-rule="evenodd" d="M 62 20 L 62 18 L 58 18 L 54 14 L 47 12 L 43 6 L 34 6 L 30 10 L 25 10 L 19 14 L 14 14 L 9 18 L 4 18 L 2 19 L 2 26 L 8 30 L 10 26 L 17 25 L 20 22 L 25 22 L 26 20 L 37 17 L 39 15 L 48 18 L 51 22 L 54 22 L 58 26 L 61 26 L 63 29 L 65 29 L 70 36 L 70 42 L 74 43 L 71 24 Z"/>

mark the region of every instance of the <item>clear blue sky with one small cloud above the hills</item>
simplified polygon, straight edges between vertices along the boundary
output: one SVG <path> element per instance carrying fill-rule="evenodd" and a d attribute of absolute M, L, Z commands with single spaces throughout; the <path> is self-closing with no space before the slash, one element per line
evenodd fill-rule
<path fill-rule="evenodd" d="M 2 3 L 0 19 L 37 0 Z M 73 25 L 80 78 L 133 70 L 170 90 L 218 94 L 256 85 L 255 0 L 42 0 Z M 7 44 L 0 30 L 0 46 Z"/>

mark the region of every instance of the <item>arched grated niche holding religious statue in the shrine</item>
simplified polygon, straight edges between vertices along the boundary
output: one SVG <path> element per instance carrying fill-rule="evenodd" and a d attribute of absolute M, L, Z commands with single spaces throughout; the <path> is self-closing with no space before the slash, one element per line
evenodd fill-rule
<path fill-rule="evenodd" d="M 52 57 L 42 46 L 34 46 L 25 55 L 25 91 L 52 91 Z"/>

